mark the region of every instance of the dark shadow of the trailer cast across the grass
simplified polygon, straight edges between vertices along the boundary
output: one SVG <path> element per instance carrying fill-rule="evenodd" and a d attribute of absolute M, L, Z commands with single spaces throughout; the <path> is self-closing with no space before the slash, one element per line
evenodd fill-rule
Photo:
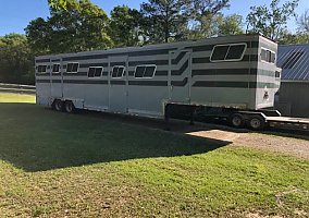
<path fill-rule="evenodd" d="M 67 114 L 0 104 L 0 159 L 36 172 L 139 158 L 206 154 L 230 144 L 163 131 L 164 122 L 97 112 Z M 172 122 L 181 129 L 183 122 Z"/>

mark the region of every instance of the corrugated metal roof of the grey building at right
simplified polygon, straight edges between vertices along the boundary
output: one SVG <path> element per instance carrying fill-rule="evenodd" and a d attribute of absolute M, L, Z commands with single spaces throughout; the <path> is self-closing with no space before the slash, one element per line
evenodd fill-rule
<path fill-rule="evenodd" d="M 282 80 L 309 81 L 309 44 L 279 46 L 277 66 Z"/>

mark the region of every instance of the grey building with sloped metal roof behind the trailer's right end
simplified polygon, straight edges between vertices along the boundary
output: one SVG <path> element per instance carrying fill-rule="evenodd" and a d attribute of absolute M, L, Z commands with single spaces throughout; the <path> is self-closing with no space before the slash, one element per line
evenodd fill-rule
<path fill-rule="evenodd" d="M 279 46 L 282 68 L 276 108 L 284 116 L 309 118 L 309 44 Z"/>

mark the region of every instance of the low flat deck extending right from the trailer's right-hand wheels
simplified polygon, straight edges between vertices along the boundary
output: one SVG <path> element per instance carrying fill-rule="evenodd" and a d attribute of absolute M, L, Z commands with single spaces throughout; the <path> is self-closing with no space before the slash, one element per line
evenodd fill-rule
<path fill-rule="evenodd" d="M 267 117 L 271 128 L 309 131 L 309 119 L 289 117 Z"/>

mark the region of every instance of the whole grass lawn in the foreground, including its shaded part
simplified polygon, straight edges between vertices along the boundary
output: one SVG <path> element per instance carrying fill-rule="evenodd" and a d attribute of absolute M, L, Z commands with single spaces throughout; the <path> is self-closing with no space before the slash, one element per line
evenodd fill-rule
<path fill-rule="evenodd" d="M 0 217 L 309 216 L 309 161 L 0 94 Z"/>

